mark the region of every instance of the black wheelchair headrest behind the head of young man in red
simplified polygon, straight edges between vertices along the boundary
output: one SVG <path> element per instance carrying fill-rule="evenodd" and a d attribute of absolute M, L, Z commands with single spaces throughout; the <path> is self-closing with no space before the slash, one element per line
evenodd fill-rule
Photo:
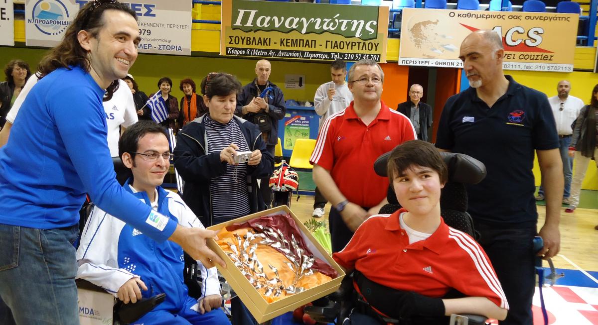
<path fill-rule="evenodd" d="M 481 161 L 465 154 L 456 154 L 454 152 L 440 152 L 444 163 L 449 170 L 449 182 L 477 184 L 486 177 L 486 165 Z M 386 177 L 386 165 L 390 152 L 378 157 L 374 163 L 374 171 L 380 176 Z"/>

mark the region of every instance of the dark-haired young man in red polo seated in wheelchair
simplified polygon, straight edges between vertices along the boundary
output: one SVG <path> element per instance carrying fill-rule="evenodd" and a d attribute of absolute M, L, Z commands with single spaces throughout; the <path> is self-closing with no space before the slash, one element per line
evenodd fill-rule
<path fill-rule="evenodd" d="M 451 314 L 504 320 L 507 298 L 486 253 L 440 216 L 440 190 L 448 173 L 437 149 L 410 141 L 395 148 L 388 161 L 388 177 L 403 208 L 369 217 L 332 258 L 358 271 L 357 289 L 388 317 L 433 318 L 425 324 L 441 323 Z M 451 289 L 466 297 L 441 298 Z"/>

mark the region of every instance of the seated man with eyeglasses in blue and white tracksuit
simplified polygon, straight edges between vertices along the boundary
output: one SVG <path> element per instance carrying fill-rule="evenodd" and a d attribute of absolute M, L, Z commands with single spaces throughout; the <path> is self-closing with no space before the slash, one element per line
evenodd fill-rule
<path fill-rule="evenodd" d="M 161 188 L 170 167 L 170 149 L 163 127 L 141 121 L 124 131 L 118 142 L 123 164 L 133 177 L 123 188 L 184 227 L 203 228 L 178 194 Z M 133 226 L 94 207 L 77 250 L 77 278 L 112 293 L 124 303 L 135 303 L 157 293 L 166 301 L 136 323 L 173 323 L 182 317 L 191 324 L 230 324 L 222 312 L 222 296 L 216 268 L 201 266 L 202 296 L 193 299 L 184 284 L 181 246 L 170 241 L 155 243 Z M 151 290 L 150 290 L 151 287 Z"/>

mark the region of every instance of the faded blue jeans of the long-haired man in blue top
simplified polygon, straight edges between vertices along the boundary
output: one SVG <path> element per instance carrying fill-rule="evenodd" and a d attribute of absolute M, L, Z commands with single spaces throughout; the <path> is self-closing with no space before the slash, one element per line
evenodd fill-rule
<path fill-rule="evenodd" d="M 79 324 L 79 225 L 35 229 L 0 224 L 0 297 L 17 324 Z"/>

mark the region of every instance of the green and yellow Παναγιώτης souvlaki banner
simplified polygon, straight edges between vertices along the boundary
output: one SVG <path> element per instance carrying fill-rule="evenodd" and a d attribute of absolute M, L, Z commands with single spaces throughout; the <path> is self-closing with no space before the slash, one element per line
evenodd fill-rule
<path fill-rule="evenodd" d="M 222 1 L 220 55 L 386 62 L 388 7 Z"/>

